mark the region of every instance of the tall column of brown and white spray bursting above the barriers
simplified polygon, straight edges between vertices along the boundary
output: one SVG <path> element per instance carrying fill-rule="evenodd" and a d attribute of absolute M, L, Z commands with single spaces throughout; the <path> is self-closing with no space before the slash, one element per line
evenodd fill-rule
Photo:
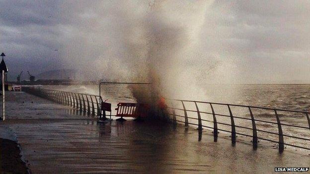
<path fill-rule="evenodd" d="M 131 86 L 133 96 L 138 102 L 151 103 L 154 107 L 160 97 L 203 96 L 184 60 L 195 51 L 208 4 L 197 1 L 188 6 L 176 1 L 153 1 L 149 8 L 143 21 L 148 64 L 142 76 L 131 80 L 152 84 Z M 156 108 L 151 110 L 154 112 Z"/>

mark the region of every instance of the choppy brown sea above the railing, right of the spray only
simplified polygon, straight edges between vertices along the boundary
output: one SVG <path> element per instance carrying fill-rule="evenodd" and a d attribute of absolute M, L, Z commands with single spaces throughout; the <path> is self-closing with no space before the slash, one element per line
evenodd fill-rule
<path fill-rule="evenodd" d="M 310 85 L 212 85 L 211 102 L 310 110 Z"/>

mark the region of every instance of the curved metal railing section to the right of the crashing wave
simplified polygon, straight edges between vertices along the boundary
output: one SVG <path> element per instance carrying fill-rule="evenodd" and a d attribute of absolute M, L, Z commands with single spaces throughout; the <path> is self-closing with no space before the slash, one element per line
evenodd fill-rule
<path fill-rule="evenodd" d="M 201 102 L 201 101 L 190 101 L 190 100 L 174 100 L 174 99 L 166 99 L 168 106 L 167 106 L 167 110 L 166 110 L 166 114 L 170 116 L 170 119 L 172 121 L 174 121 L 174 123 L 176 122 L 182 122 L 185 124 L 185 126 L 188 126 L 189 124 L 191 125 L 196 125 L 198 126 L 198 130 L 199 130 L 199 138 L 201 139 L 201 133 L 202 133 L 202 129 L 203 127 L 205 128 L 209 128 L 213 130 L 213 137 L 214 137 L 214 141 L 218 141 L 218 133 L 219 131 L 224 131 L 224 132 L 228 132 L 231 133 L 231 140 L 232 140 L 232 144 L 233 146 L 236 143 L 236 137 L 237 135 L 243 135 L 243 136 L 247 136 L 247 137 L 252 137 L 252 146 L 253 149 L 257 148 L 257 144 L 258 144 L 258 140 L 266 140 L 266 141 L 270 141 L 270 142 L 274 142 L 274 143 L 278 143 L 278 147 L 279 147 L 279 152 L 282 153 L 284 150 L 284 145 L 288 145 L 288 146 L 293 146 L 293 147 L 297 147 L 297 148 L 302 148 L 302 149 L 307 149 L 310 150 L 310 134 L 308 132 L 308 130 L 310 130 L 310 112 L 306 112 L 306 111 L 294 111 L 294 110 L 284 110 L 284 109 L 274 109 L 274 108 L 265 108 L 265 107 L 255 107 L 255 106 L 245 106 L 245 105 L 232 105 L 232 104 L 224 104 L 224 103 L 212 103 L 212 102 Z M 186 109 L 186 104 L 192 105 L 192 109 Z M 202 108 L 201 106 L 199 107 L 199 105 L 204 105 L 203 108 L 207 109 L 209 108 L 210 112 L 208 111 L 200 111 L 200 109 Z M 179 106 L 179 107 L 170 107 L 170 106 Z M 221 113 L 217 113 L 215 111 L 215 107 L 216 106 L 220 106 L 221 107 Z M 223 108 L 225 107 L 225 108 Z M 232 108 L 237 108 L 237 109 L 246 109 L 248 112 L 248 116 L 249 117 L 242 117 L 242 116 L 236 116 L 233 115 L 232 112 Z M 222 114 L 224 110 L 227 110 L 226 112 L 228 114 Z M 268 116 L 274 116 L 276 121 L 273 121 L 272 119 L 270 120 L 264 120 L 264 119 L 257 119 L 255 118 L 255 115 L 253 114 L 253 110 L 263 110 L 266 114 L 266 112 L 268 113 Z M 177 111 L 180 111 L 180 114 L 176 114 Z M 270 113 L 272 112 L 272 113 Z M 299 118 L 301 116 L 305 116 L 307 121 L 308 121 L 308 126 L 303 126 L 303 125 L 294 125 L 294 124 L 289 124 L 289 123 L 283 123 L 281 122 L 280 118 L 282 115 L 280 115 L 279 113 L 291 113 L 292 115 L 299 115 Z M 182 113 L 182 114 L 181 114 Z M 189 116 L 189 113 L 194 113 L 196 116 Z M 205 117 L 202 117 L 203 115 L 206 115 Z M 211 116 L 211 120 L 208 120 L 208 115 Z M 171 118 L 172 117 L 172 118 Z M 177 119 L 181 118 L 181 119 Z M 229 121 L 228 123 L 225 121 L 219 121 L 219 118 L 222 117 L 222 120 Z M 224 119 L 223 119 L 224 118 Z M 246 125 L 240 124 L 240 125 L 236 125 L 235 121 L 236 119 L 240 119 L 240 120 L 247 120 L 251 122 L 251 127 L 248 127 Z M 195 120 L 195 121 L 189 121 L 189 120 Z M 203 124 L 203 122 L 205 124 Z M 211 123 L 213 125 L 206 125 L 207 123 Z M 264 129 L 258 129 L 257 128 L 257 122 L 259 123 L 263 123 L 263 124 L 268 124 L 269 127 L 272 125 L 275 125 L 277 127 L 277 132 L 272 132 L 270 130 L 264 130 Z M 219 125 L 224 125 L 224 126 L 228 126 L 230 127 L 229 129 L 224 129 L 224 128 L 219 128 Z M 248 125 L 248 124 L 247 124 Z M 298 128 L 298 129 L 304 129 L 306 130 L 308 133 L 306 133 L 306 136 L 301 137 L 301 136 L 295 136 L 295 135 L 290 135 L 290 134 L 285 134 L 283 132 L 283 126 L 288 127 L 288 130 L 291 128 Z M 246 134 L 243 133 L 242 131 L 236 131 L 236 128 L 238 129 L 247 129 L 251 131 L 251 134 Z M 308 130 L 307 130 L 308 129 Z M 272 135 L 276 135 L 278 136 L 277 139 L 271 139 L 271 138 L 266 138 L 266 137 L 260 137 L 258 136 L 258 132 L 263 132 L 263 133 L 268 133 L 268 134 L 272 134 Z M 287 133 L 287 132 L 286 132 Z M 308 136 L 307 136 L 308 135 Z M 294 145 L 294 144 L 289 144 L 284 142 L 284 137 L 289 137 L 292 138 L 296 141 L 306 141 L 306 145 Z M 308 144 L 308 146 L 307 146 Z"/>

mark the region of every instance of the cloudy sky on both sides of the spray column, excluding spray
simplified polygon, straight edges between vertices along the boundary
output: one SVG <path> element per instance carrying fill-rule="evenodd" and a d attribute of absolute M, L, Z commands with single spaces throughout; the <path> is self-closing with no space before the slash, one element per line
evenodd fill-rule
<path fill-rule="evenodd" d="M 107 69 L 118 66 L 113 64 L 116 57 L 130 61 L 130 57 L 141 55 L 139 48 L 146 45 L 139 38 L 143 35 L 136 33 L 144 32 L 140 29 L 148 11 L 171 8 L 161 18 L 146 18 L 166 20 L 181 14 L 174 13 L 172 4 L 182 11 L 200 2 L 172 1 L 2 0 L 0 51 L 7 55 L 9 77 L 15 78 L 21 70 L 35 74 L 85 63 L 94 69 Z M 197 30 L 195 55 L 179 59 L 190 64 L 187 71 L 200 71 L 194 73 L 200 73 L 199 79 L 214 82 L 217 78 L 215 83 L 310 83 L 310 1 L 216 0 L 203 17 L 184 14 L 180 18 L 192 15 L 192 19 L 204 21 Z M 184 23 L 183 29 L 196 25 L 182 19 L 175 22 Z M 210 59 L 219 65 L 209 67 Z M 116 72 L 122 71 L 119 69 Z"/>

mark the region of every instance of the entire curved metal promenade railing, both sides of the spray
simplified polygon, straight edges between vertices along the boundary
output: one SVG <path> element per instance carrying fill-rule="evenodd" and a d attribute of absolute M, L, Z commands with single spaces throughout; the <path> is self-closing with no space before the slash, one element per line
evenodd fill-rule
<path fill-rule="evenodd" d="M 102 116 L 99 106 L 99 100 L 102 102 L 100 96 L 32 87 L 23 87 L 22 90 L 71 106 L 87 115 Z M 236 143 L 237 135 L 242 135 L 251 137 L 253 149 L 257 149 L 259 140 L 265 140 L 277 143 L 280 153 L 285 149 L 284 145 L 310 150 L 310 112 L 308 111 L 174 99 L 166 99 L 166 104 L 167 107 L 162 112 L 168 115 L 174 123 L 184 123 L 186 127 L 189 125 L 198 126 L 199 139 L 202 137 L 203 128 L 207 128 L 213 130 L 215 142 L 218 141 L 219 131 L 230 133 L 233 146 Z M 243 110 L 245 114 L 240 114 L 240 112 L 235 114 L 235 110 Z M 299 118 L 301 120 L 299 122 L 304 119 L 305 125 L 284 121 L 284 113 Z M 263 116 L 269 116 L 269 118 L 264 120 Z M 293 130 L 296 129 L 300 132 L 294 134 Z M 301 141 L 304 143 L 300 143 Z"/>

